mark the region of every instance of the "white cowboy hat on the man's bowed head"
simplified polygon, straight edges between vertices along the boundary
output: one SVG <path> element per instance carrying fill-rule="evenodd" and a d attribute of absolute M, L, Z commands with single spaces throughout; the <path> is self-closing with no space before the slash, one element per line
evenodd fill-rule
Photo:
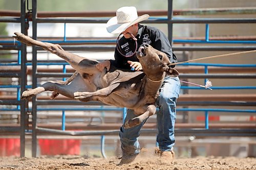
<path fill-rule="evenodd" d="M 148 17 L 150 17 L 150 15 L 147 14 L 138 17 L 135 7 L 121 7 L 116 11 L 116 16 L 106 23 L 106 30 L 112 34 L 120 34 L 128 27 Z"/>

